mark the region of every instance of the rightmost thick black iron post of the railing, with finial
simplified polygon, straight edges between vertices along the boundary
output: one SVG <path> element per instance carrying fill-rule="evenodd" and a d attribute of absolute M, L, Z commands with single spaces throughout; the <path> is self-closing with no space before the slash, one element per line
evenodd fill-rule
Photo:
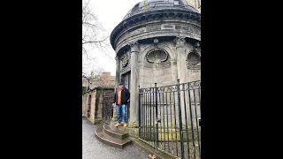
<path fill-rule="evenodd" d="M 180 126 L 180 154 L 181 158 L 185 158 L 184 140 L 183 140 L 183 124 L 182 124 L 182 111 L 180 104 L 180 79 L 177 79 L 177 92 L 178 92 L 178 106 L 179 106 L 179 126 Z"/>

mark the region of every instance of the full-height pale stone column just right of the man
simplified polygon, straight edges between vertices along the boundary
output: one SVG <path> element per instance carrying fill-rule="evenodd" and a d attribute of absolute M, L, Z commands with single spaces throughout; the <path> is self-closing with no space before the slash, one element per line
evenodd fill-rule
<path fill-rule="evenodd" d="M 130 43 L 131 47 L 131 96 L 130 96 L 130 121 L 129 127 L 138 126 L 138 107 L 139 107 L 139 68 L 138 68 L 138 54 L 140 52 L 138 42 Z"/>

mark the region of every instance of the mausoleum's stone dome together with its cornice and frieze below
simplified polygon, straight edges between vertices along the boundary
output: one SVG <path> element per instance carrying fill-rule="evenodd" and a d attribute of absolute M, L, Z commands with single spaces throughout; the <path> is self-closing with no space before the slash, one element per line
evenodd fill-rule
<path fill-rule="evenodd" d="M 164 24 L 161 26 L 161 23 Z M 121 52 L 121 48 L 128 47 L 125 42 L 131 41 L 130 37 L 141 41 L 153 36 L 172 37 L 181 34 L 200 41 L 200 25 L 201 13 L 188 0 L 143 0 L 135 4 L 112 30 L 111 46 Z"/>

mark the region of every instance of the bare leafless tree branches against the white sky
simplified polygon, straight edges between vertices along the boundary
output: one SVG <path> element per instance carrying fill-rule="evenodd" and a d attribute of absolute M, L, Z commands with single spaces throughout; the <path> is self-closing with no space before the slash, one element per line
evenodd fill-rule
<path fill-rule="evenodd" d="M 97 67 L 96 53 L 94 49 L 103 52 L 105 56 L 111 57 L 108 53 L 110 44 L 109 35 L 102 24 L 96 18 L 93 9 L 88 2 L 82 4 L 82 74 L 88 76 L 88 68 Z M 92 70 L 92 69 L 91 69 Z"/>

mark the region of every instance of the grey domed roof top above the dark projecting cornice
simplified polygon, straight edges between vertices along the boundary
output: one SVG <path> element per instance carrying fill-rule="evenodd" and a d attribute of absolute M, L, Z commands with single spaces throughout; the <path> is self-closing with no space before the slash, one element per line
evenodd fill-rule
<path fill-rule="evenodd" d="M 154 11 L 164 8 L 181 8 L 199 13 L 199 11 L 197 11 L 192 4 L 187 2 L 187 0 L 143 0 L 138 4 L 135 4 L 134 7 L 126 13 L 124 19 L 145 11 Z"/>

